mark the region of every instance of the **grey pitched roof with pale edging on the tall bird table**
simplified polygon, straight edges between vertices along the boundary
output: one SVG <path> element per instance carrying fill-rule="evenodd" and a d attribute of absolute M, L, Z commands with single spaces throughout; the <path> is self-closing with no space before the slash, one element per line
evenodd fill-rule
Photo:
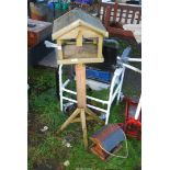
<path fill-rule="evenodd" d="M 71 30 L 78 25 L 86 25 L 103 34 L 104 36 L 107 35 L 105 27 L 98 18 L 94 18 L 78 8 L 67 12 L 54 21 L 53 34 L 59 34 L 63 29 L 68 26 L 70 26 Z"/>

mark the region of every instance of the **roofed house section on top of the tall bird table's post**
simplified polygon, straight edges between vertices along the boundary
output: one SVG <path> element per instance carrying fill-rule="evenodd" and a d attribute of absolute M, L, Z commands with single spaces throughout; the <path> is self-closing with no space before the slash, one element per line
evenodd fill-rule
<path fill-rule="evenodd" d="M 58 64 L 103 63 L 103 37 L 107 32 L 101 21 L 81 9 L 73 9 L 55 20 L 53 39 L 58 45 Z"/>

